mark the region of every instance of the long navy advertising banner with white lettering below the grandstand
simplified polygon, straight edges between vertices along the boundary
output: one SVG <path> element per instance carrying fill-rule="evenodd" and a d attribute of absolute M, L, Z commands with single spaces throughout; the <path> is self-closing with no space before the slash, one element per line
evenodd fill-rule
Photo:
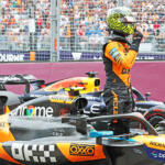
<path fill-rule="evenodd" d="M 61 51 L 59 61 L 101 61 L 102 53 Z M 139 54 L 136 61 L 164 61 L 165 54 Z M 0 63 L 51 62 L 50 51 L 0 51 Z"/>

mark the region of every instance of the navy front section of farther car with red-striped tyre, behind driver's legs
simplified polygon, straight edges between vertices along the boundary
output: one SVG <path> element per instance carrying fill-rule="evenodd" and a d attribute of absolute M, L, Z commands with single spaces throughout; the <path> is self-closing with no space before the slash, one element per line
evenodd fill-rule
<path fill-rule="evenodd" d="M 106 110 L 106 105 L 102 98 L 103 91 L 96 91 L 82 95 L 87 99 L 87 106 L 84 113 L 89 116 L 99 116 Z M 132 88 L 135 109 L 134 111 L 141 112 L 152 125 L 157 127 L 157 123 L 165 119 L 165 103 L 161 101 L 150 100 L 150 92 L 143 96 L 138 89 Z"/>

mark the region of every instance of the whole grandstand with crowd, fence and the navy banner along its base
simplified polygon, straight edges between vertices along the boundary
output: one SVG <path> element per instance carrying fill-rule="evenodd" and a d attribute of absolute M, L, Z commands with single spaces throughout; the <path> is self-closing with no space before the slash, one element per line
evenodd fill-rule
<path fill-rule="evenodd" d="M 107 10 L 117 6 L 128 6 L 135 14 L 138 26 L 142 29 L 144 35 L 140 53 L 145 56 L 152 52 L 158 59 L 165 58 L 164 0 L 56 1 L 59 4 L 54 8 L 51 0 L 0 1 L 0 62 L 9 62 L 7 58 L 9 54 L 19 55 L 16 58 L 13 57 L 15 62 L 21 55 L 24 57 L 20 62 L 31 59 L 50 62 L 51 52 L 57 50 L 58 61 L 100 59 L 102 44 L 108 38 Z M 56 22 L 57 31 L 52 29 L 54 25 L 52 9 L 59 10 L 55 12 L 59 14 Z M 31 56 L 34 54 L 35 58 Z"/>

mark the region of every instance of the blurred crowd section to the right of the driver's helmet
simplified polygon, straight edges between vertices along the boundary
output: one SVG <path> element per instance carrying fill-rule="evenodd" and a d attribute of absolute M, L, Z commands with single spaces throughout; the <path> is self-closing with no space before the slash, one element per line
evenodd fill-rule
<path fill-rule="evenodd" d="M 133 0 L 130 7 L 136 15 L 138 26 L 143 32 L 143 42 L 152 42 L 158 51 L 164 52 L 165 0 Z"/>

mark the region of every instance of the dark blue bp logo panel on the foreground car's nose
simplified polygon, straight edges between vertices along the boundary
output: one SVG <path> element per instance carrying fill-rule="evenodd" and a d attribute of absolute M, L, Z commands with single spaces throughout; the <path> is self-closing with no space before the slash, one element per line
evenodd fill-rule
<path fill-rule="evenodd" d="M 150 158 L 165 162 L 165 151 L 151 148 L 151 147 L 146 147 L 146 146 L 144 148 Z"/>

